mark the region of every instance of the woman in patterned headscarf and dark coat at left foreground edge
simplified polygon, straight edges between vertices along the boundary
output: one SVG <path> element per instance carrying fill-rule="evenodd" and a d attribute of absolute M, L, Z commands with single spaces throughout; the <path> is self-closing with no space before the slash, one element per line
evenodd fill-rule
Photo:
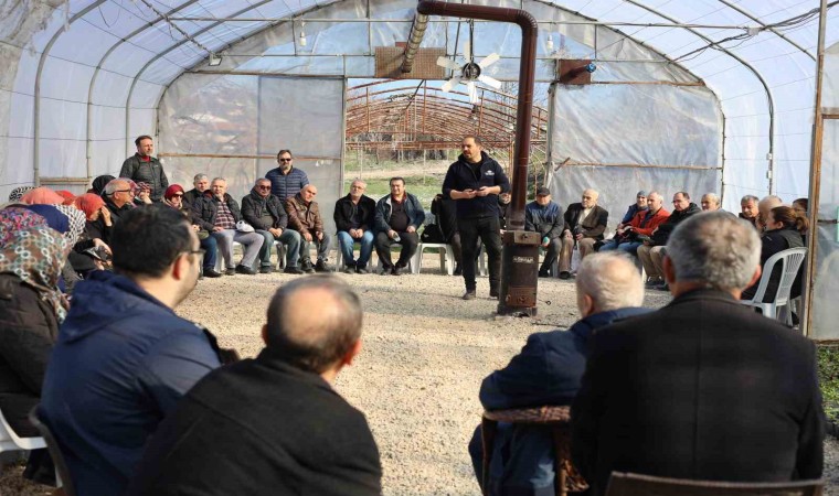
<path fill-rule="evenodd" d="M 57 288 L 67 241 L 39 215 L 0 211 L 0 410 L 18 435 L 38 436 L 28 414 L 39 403 L 46 364 L 67 302 Z M 24 476 L 54 484 L 46 450 L 30 454 Z"/>

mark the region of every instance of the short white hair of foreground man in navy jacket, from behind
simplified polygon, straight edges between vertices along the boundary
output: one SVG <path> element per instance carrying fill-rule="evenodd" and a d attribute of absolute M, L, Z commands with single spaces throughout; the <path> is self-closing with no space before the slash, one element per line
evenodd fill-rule
<path fill-rule="evenodd" d="M 618 251 L 585 257 L 577 268 L 576 290 L 594 300 L 596 312 L 644 304 L 641 274 L 629 256 Z"/>

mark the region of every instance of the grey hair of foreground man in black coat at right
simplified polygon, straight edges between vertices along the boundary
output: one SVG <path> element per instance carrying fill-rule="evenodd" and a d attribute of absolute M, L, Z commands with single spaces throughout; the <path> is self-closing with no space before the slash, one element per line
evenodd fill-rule
<path fill-rule="evenodd" d="M 748 285 L 761 263 L 761 238 L 728 212 L 707 212 L 680 223 L 667 241 L 677 281 L 704 282 L 721 291 Z"/>

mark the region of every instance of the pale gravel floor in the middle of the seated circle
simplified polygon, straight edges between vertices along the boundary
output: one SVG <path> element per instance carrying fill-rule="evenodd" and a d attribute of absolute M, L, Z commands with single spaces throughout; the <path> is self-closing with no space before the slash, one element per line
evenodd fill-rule
<path fill-rule="evenodd" d="M 463 279 L 439 276 L 432 257 L 422 276 L 339 274 L 361 294 L 365 314 L 363 351 L 337 388 L 368 417 L 385 495 L 478 495 L 466 446 L 480 419 L 481 379 L 503 367 L 530 333 L 578 319 L 573 281 L 540 279 L 538 317 L 495 317 L 486 278 L 478 280 L 478 299 L 463 301 Z M 203 280 L 178 312 L 206 325 L 222 346 L 254 356 L 268 300 L 294 277 Z M 654 291 L 645 304 L 668 301 Z M 839 443 L 829 439 L 825 448 L 827 494 L 839 495 Z M 21 485 L 19 474 L 6 470 L 0 494 L 44 494 L 43 486 Z"/>

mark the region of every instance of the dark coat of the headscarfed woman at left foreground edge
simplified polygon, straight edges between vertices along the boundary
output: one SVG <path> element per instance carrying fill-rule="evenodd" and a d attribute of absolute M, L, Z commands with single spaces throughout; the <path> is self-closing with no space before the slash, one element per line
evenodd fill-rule
<path fill-rule="evenodd" d="M 0 410 L 19 435 L 36 436 L 26 416 L 41 399 L 59 335 L 53 308 L 12 273 L 0 274 Z"/>

